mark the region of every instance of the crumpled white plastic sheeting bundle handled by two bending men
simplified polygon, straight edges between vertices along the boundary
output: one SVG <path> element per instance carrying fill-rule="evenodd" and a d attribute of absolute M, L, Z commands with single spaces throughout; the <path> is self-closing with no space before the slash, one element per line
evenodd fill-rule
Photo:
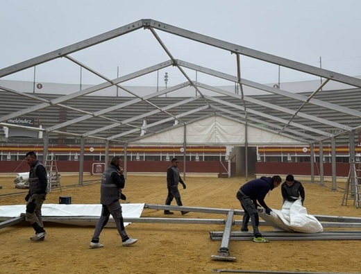
<path fill-rule="evenodd" d="M 272 209 L 270 215 L 260 212 L 260 217 L 275 228 L 287 232 L 317 233 L 324 231 L 316 217 L 307 213 L 301 200 L 286 201 L 281 210 Z"/>

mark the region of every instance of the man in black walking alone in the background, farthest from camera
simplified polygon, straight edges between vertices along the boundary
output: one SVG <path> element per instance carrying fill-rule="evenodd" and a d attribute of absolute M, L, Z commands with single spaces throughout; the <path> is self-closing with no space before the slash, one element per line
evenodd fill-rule
<path fill-rule="evenodd" d="M 183 182 L 181 175 L 179 175 L 179 169 L 178 169 L 178 159 L 173 158 L 171 160 L 171 166 L 167 169 L 167 189 L 168 189 L 168 195 L 167 199 L 165 200 L 165 205 L 171 205 L 171 201 L 173 198 L 176 199 L 176 203 L 178 206 L 183 206 L 182 200 L 181 200 L 181 194 L 178 190 L 178 184 L 181 183 L 183 185 L 183 189 L 185 189 L 187 186 Z M 165 210 L 165 214 L 173 214 L 173 212 L 170 212 L 169 210 Z M 181 211 L 182 215 L 187 214 L 187 211 Z"/>

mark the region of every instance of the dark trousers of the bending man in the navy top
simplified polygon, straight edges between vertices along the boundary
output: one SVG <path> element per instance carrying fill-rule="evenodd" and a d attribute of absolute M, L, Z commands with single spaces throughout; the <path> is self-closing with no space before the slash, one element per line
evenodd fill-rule
<path fill-rule="evenodd" d="M 253 203 L 253 200 L 251 200 L 249 196 L 241 194 L 240 191 L 237 192 L 236 197 L 240 201 L 244 210 L 242 229 L 247 228 L 249 219 L 251 218 L 254 237 L 262 237 L 260 230 L 258 230 L 258 225 L 260 224 L 260 217 L 258 216 L 257 207 Z"/>

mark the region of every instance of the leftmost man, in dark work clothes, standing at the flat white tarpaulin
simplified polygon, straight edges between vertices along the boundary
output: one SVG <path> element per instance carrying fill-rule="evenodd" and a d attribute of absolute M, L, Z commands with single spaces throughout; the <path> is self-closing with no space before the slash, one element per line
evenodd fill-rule
<path fill-rule="evenodd" d="M 44 241 L 47 232 L 42 223 L 42 204 L 47 198 L 47 169 L 37 160 L 34 151 L 26 153 L 25 160 L 30 166 L 29 191 L 25 197 L 26 219 L 35 230 L 35 236 L 30 239 L 31 241 Z"/>

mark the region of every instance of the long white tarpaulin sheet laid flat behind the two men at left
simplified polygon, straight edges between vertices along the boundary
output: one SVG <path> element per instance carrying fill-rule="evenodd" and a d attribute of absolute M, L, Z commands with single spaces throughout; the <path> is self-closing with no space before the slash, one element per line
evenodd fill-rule
<path fill-rule="evenodd" d="M 123 218 L 139 218 L 142 215 L 144 203 L 121 204 Z M 19 217 L 25 213 L 26 205 L 1 205 L 0 219 Z M 100 217 L 101 205 L 94 204 L 43 204 L 43 217 Z M 110 219 L 112 216 L 110 216 Z M 128 225 L 129 223 L 124 223 Z"/>

